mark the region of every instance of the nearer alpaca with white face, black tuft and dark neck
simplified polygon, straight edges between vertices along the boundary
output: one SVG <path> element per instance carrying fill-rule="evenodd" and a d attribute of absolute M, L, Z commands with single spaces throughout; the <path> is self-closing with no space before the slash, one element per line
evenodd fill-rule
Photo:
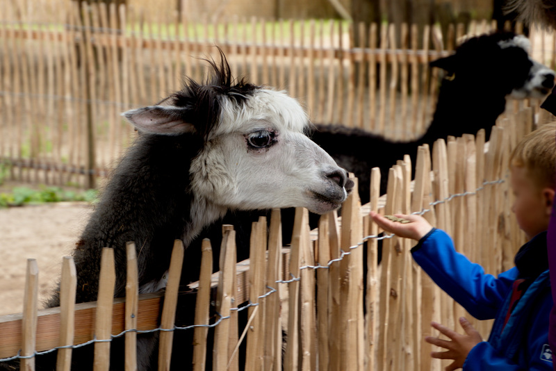
<path fill-rule="evenodd" d="M 97 299 L 102 247 L 114 249 L 116 297 L 125 296 L 126 241 L 136 242 L 140 293 L 156 292 L 165 287 L 174 239 L 189 247 L 227 211 L 300 206 L 327 213 L 352 189 L 345 170 L 304 134 L 309 120 L 300 104 L 285 92 L 234 82 L 220 53 L 220 65 L 208 61 L 211 81 L 189 80 L 164 106 L 123 114 L 140 135 L 76 243 L 76 302 Z M 198 265 L 186 258 L 183 270 Z M 58 304 L 55 292 L 48 306 Z M 113 370 L 123 369 L 120 340 L 112 344 Z M 156 336 L 138 338 L 140 370 L 152 367 L 155 345 Z M 91 350 L 74 349 L 74 370 L 92 368 Z M 51 358 L 38 357 L 38 368 L 51 369 Z"/>

